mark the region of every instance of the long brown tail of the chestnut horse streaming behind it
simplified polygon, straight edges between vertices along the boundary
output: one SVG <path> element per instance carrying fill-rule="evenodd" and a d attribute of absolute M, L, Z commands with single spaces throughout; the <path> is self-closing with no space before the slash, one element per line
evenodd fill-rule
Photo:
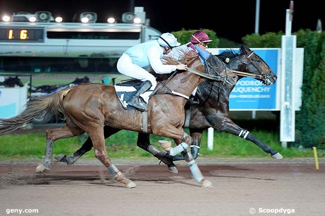
<path fill-rule="evenodd" d="M 62 114 L 64 117 L 65 111 L 62 102 L 63 97 L 69 90 L 62 90 L 47 97 L 32 98 L 27 103 L 25 109 L 17 116 L 9 119 L 0 119 L 0 136 L 17 130 L 25 123 L 48 112 L 52 112 L 54 115 Z"/>

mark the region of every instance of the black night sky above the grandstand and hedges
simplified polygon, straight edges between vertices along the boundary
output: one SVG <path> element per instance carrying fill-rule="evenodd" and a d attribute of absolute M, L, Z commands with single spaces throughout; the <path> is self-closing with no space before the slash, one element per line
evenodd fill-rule
<path fill-rule="evenodd" d="M 209 28 L 219 37 L 240 42 L 240 38 L 254 32 L 256 0 L 220 0 L 189 3 L 187 0 L 134 0 L 135 6 L 144 6 L 151 26 L 161 32 Z M 300 28 L 315 30 L 317 18 L 325 22 L 325 12 L 319 0 L 294 0 L 292 31 Z M 215 5 L 215 6 L 211 6 Z M 260 0 L 259 33 L 284 31 L 285 9 L 289 0 Z M 130 0 L 0 0 L 0 15 L 4 12 L 48 10 L 70 21 L 74 13 L 93 11 L 97 22 L 105 22 L 109 15 L 121 17 L 130 11 Z"/>

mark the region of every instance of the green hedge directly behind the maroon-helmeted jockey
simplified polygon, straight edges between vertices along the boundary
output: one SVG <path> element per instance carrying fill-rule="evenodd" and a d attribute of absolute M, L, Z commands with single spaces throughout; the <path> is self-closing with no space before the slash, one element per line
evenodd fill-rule
<path fill-rule="evenodd" d="M 209 48 L 217 48 L 219 45 L 219 39 L 216 36 L 216 33 L 210 29 L 199 29 L 204 31 L 211 40 L 213 40 L 212 42 L 209 43 L 208 47 Z M 177 41 L 180 42 L 180 44 L 185 44 L 188 43 L 190 40 L 190 36 L 197 30 L 193 30 L 193 29 L 189 29 L 189 30 L 185 30 L 185 29 L 181 29 L 179 31 L 173 31 L 170 32 L 173 35 L 175 35 L 175 37 L 177 38 Z"/>

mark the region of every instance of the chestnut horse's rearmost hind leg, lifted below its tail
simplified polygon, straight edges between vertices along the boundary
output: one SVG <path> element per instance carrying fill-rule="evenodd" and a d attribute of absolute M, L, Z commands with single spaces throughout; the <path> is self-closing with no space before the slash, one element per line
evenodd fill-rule
<path fill-rule="evenodd" d="M 61 128 L 46 130 L 46 150 L 44 155 L 44 161 L 42 164 L 36 167 L 36 173 L 44 172 L 51 169 L 52 164 L 52 145 L 55 140 L 67 137 L 78 136 L 83 133 L 80 128 L 71 127 L 65 124 Z"/>

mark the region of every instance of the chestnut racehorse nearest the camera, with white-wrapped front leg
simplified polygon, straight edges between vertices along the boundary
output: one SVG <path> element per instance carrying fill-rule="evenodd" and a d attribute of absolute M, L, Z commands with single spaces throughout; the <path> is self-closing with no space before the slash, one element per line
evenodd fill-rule
<path fill-rule="evenodd" d="M 226 85 L 234 85 L 237 76 L 226 68 L 220 59 L 209 55 L 206 59 L 206 67 L 212 68 L 213 74 L 205 73 L 204 66 L 198 57 L 186 62 L 188 71 L 176 73 L 170 79 L 167 86 L 178 93 L 189 96 L 194 88 L 205 80 L 202 76 L 215 81 L 221 81 Z M 169 64 L 178 64 L 169 59 Z M 195 72 L 195 73 L 194 73 Z M 200 73 L 200 75 L 197 75 Z M 185 98 L 171 94 L 153 95 L 149 100 L 147 117 L 138 110 L 124 110 L 115 95 L 112 85 L 87 84 L 68 90 L 57 92 L 47 97 L 36 98 L 27 104 L 26 109 L 18 116 L 11 119 L 0 119 L 0 135 L 18 129 L 24 123 L 52 111 L 54 114 L 63 114 L 66 124 L 57 129 L 46 131 L 46 150 L 44 161 L 38 165 L 36 172 L 51 169 L 53 142 L 67 137 L 77 136 L 86 132 L 90 137 L 95 157 L 115 177 L 117 182 L 126 188 L 133 188 L 135 184 L 127 179 L 109 160 L 104 142 L 104 125 L 118 130 L 131 130 L 139 133 L 153 133 L 158 136 L 174 139 L 177 144 L 172 148 L 170 155 L 182 152 L 188 163 L 192 176 L 201 187 L 209 187 L 211 183 L 204 179 L 193 159 L 189 146 L 191 137 L 184 133 L 184 105 Z M 147 118 L 147 126 L 143 119 Z"/>

